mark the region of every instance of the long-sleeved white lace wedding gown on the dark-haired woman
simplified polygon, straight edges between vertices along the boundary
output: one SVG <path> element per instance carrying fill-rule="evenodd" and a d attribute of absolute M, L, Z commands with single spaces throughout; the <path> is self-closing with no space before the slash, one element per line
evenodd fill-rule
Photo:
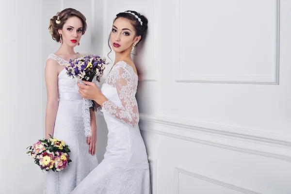
<path fill-rule="evenodd" d="M 109 131 L 104 160 L 71 194 L 150 194 L 146 147 L 138 126 L 137 82 L 138 76 L 123 61 L 104 81 L 101 92 L 109 99 L 102 107 Z"/>

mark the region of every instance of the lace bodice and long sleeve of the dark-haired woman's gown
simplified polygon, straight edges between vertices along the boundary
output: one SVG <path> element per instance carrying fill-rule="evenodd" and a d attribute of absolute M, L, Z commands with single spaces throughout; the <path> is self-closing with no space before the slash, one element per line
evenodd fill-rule
<path fill-rule="evenodd" d="M 135 98 L 138 76 L 133 68 L 123 61 L 116 63 L 104 84 L 113 86 L 119 98 L 113 97 L 104 102 L 102 112 L 105 110 L 130 127 L 135 127 L 139 122 L 138 106 Z"/>

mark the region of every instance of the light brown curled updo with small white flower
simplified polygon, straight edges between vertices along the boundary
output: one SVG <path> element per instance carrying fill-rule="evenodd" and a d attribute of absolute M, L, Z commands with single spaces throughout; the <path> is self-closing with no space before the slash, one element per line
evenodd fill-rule
<path fill-rule="evenodd" d="M 86 17 L 81 12 L 73 8 L 66 8 L 63 11 L 58 12 L 56 16 L 53 16 L 49 21 L 49 33 L 51 34 L 53 40 L 60 42 L 61 35 L 59 33 L 59 29 L 63 29 L 66 20 L 74 16 L 81 19 L 81 22 L 83 24 L 82 35 L 86 32 L 87 29 Z"/>

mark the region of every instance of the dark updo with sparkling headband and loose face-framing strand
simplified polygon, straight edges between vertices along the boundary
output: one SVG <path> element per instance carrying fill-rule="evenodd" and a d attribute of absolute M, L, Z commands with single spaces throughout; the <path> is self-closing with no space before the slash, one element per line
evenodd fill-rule
<path fill-rule="evenodd" d="M 128 12 L 130 12 L 132 14 L 130 14 Z M 136 18 L 133 14 L 141 19 L 142 24 L 138 20 L 138 18 Z M 136 47 L 137 47 L 138 44 L 143 40 L 143 38 L 144 38 L 144 36 L 146 34 L 147 22 L 148 22 L 147 19 L 146 19 L 146 16 L 140 15 L 136 11 L 130 11 L 130 10 L 128 10 L 128 11 L 120 12 L 119 14 L 117 14 L 116 17 L 115 17 L 115 19 L 113 20 L 113 23 L 119 17 L 123 17 L 123 18 L 128 19 L 130 21 L 130 23 L 132 24 L 134 30 L 135 30 L 136 36 L 141 36 L 140 41 L 136 44 Z M 111 52 L 112 49 L 110 47 L 110 38 L 111 38 L 111 35 L 109 35 L 109 38 L 108 38 L 108 46 L 109 46 L 110 52 Z M 108 55 L 109 55 L 109 53 L 108 53 Z"/>

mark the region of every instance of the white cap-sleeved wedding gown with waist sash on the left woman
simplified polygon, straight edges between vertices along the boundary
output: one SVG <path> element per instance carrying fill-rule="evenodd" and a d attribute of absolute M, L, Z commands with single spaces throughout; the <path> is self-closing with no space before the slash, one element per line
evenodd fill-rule
<path fill-rule="evenodd" d="M 50 54 L 48 59 L 54 59 L 60 65 L 67 61 Z M 55 120 L 53 137 L 65 141 L 71 150 L 69 163 L 60 172 L 45 172 L 44 194 L 69 194 L 98 164 L 97 156 L 89 154 L 87 144 L 88 131 L 85 131 L 84 117 L 90 119 L 88 107 L 84 110 L 76 80 L 66 75 L 66 70 L 58 76 L 59 106 Z M 88 118 L 89 117 L 89 118 Z M 86 135 L 85 135 L 86 132 Z"/>

